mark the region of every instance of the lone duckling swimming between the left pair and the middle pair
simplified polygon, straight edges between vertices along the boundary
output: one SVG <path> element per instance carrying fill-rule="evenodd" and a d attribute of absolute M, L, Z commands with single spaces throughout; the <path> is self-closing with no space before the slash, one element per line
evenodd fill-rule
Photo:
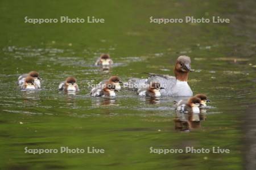
<path fill-rule="evenodd" d="M 76 83 L 76 78 L 69 76 L 64 82 L 59 84 L 60 91 L 79 91 L 79 86 Z"/>

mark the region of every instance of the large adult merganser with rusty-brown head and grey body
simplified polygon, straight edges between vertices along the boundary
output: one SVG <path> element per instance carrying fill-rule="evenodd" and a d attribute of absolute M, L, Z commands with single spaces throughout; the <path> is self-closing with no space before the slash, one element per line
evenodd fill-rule
<path fill-rule="evenodd" d="M 160 90 L 163 96 L 193 96 L 193 92 L 188 85 L 188 73 L 191 69 L 191 58 L 179 56 L 174 67 L 175 76 L 147 73 L 148 78 L 131 78 L 126 86 L 131 89 L 139 90 L 144 84 L 159 82 L 164 88 Z"/>

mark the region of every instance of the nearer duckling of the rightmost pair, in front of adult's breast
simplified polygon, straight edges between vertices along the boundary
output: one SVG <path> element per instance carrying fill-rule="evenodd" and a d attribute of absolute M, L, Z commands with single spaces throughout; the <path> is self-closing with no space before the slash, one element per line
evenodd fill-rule
<path fill-rule="evenodd" d="M 199 97 L 190 97 L 186 104 L 177 103 L 175 109 L 183 113 L 200 113 L 201 99 Z"/>

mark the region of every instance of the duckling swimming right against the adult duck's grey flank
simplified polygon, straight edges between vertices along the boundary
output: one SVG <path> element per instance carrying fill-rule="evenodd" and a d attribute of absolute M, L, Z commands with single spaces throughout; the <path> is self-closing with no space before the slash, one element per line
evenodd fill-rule
<path fill-rule="evenodd" d="M 159 82 L 151 82 L 149 86 L 145 88 L 140 88 L 138 90 L 139 96 L 148 96 L 148 97 L 160 97 L 160 90 L 164 87 L 161 87 Z"/>

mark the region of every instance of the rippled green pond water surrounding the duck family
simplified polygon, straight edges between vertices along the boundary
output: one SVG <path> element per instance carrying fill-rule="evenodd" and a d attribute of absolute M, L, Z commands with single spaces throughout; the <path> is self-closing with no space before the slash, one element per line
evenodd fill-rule
<path fill-rule="evenodd" d="M 255 103 L 254 1 L 1 1 L 0 169 L 243 169 L 246 110 Z M 154 18 L 230 18 L 230 24 L 156 24 Z M 28 18 L 104 18 L 105 23 L 24 23 Z M 246 17 L 243 17 L 246 16 Z M 252 27 L 254 25 L 254 27 Z M 115 65 L 93 64 L 110 53 Z M 154 103 L 122 89 L 90 97 L 88 82 L 143 72 L 173 75 L 190 56 L 189 85 L 212 100 L 201 128 L 175 130 L 172 97 Z M 42 90 L 20 91 L 36 70 Z M 57 91 L 75 76 L 76 95 Z M 105 154 L 26 154 L 24 148 L 104 148 Z M 230 154 L 150 154 L 154 148 L 229 148 Z"/>

